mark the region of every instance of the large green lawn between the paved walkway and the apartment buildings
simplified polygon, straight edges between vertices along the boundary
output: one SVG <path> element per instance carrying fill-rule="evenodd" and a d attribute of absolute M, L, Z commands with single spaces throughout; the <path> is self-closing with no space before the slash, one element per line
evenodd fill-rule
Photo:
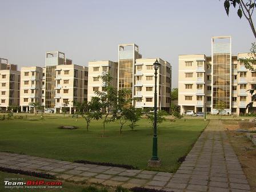
<path fill-rule="evenodd" d="M 59 126 L 78 126 L 76 130 L 58 129 Z M 178 158 L 186 155 L 201 131 L 203 119 L 166 121 L 158 127 L 158 154 L 161 171 L 175 171 Z M 89 133 L 85 120 L 47 115 L 27 119 L 0 121 L 0 151 L 23 153 L 39 157 L 75 161 L 111 162 L 146 169 L 151 157 L 153 129 L 147 119 L 141 119 L 135 130 L 123 127 L 119 134 L 118 122 L 107 123 L 105 137 L 101 137 L 102 121 L 92 121 Z"/>

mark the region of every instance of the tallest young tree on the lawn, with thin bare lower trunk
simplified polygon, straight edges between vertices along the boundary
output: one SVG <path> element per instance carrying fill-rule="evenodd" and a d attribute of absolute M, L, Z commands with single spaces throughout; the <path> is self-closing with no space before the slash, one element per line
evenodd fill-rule
<path fill-rule="evenodd" d="M 114 106 L 117 106 L 117 89 L 115 89 L 112 85 L 112 77 L 109 73 L 103 72 L 102 75 L 99 76 L 102 79 L 102 91 L 95 91 L 95 94 L 99 98 L 102 107 L 102 113 L 104 113 L 105 117 L 103 118 L 103 129 L 102 129 L 102 137 L 105 134 L 105 124 L 106 122 L 113 121 L 113 118 L 108 118 L 111 110 L 114 109 Z"/>

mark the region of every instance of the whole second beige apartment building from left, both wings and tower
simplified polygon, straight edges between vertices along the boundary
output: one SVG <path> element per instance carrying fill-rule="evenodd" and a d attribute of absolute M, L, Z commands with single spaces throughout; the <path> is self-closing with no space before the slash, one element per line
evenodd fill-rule
<path fill-rule="evenodd" d="M 46 53 L 45 67 L 22 67 L 21 109 L 33 111 L 30 102 L 39 102 L 45 111 L 61 113 L 68 107 L 74 113 L 74 102 L 87 101 L 88 68 L 74 65 L 65 53 Z"/>

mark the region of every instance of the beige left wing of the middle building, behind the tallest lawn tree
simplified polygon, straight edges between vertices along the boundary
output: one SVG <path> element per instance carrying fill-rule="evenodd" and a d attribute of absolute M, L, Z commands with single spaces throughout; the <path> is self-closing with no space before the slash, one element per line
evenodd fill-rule
<path fill-rule="evenodd" d="M 102 80 L 99 78 L 103 73 L 110 73 L 113 77 L 112 85 L 117 88 L 118 63 L 113 61 L 90 61 L 88 63 L 88 101 L 95 97 L 94 91 L 103 91 Z"/>

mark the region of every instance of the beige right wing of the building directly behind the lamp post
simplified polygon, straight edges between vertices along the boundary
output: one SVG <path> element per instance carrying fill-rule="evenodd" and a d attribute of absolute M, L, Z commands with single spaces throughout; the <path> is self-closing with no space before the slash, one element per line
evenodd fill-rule
<path fill-rule="evenodd" d="M 135 107 L 154 107 L 154 67 L 153 63 L 158 59 L 160 67 L 157 74 L 157 108 L 169 111 L 171 93 L 171 65 L 161 58 L 136 59 L 134 73 L 134 97 Z"/>

